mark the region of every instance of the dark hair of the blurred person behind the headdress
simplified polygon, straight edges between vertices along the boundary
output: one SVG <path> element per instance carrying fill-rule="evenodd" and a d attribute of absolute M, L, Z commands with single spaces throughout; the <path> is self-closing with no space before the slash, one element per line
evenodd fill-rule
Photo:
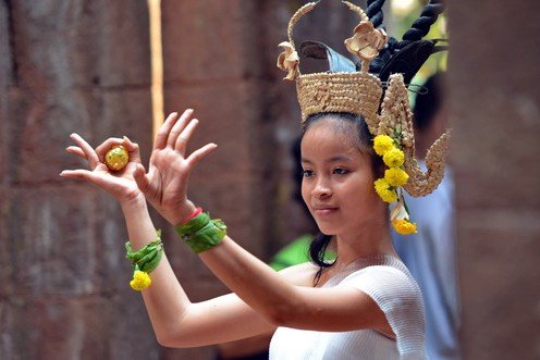
<path fill-rule="evenodd" d="M 416 96 L 415 101 L 415 128 L 422 132 L 427 129 L 434 115 L 444 105 L 444 73 L 429 77 L 422 85 L 425 91 Z"/>

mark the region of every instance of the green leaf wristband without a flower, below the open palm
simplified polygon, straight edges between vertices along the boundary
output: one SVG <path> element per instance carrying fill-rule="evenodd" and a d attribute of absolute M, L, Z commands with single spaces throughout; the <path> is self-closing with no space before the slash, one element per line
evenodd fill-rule
<path fill-rule="evenodd" d="M 201 212 L 185 224 L 174 226 L 174 231 L 195 253 L 199 253 L 221 243 L 226 235 L 226 225 Z"/>

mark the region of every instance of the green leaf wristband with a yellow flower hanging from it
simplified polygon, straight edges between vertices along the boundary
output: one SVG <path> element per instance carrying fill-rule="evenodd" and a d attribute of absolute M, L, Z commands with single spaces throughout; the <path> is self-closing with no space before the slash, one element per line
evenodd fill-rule
<path fill-rule="evenodd" d="M 154 271 L 163 257 L 163 243 L 161 241 L 161 231 L 156 232 L 157 239 L 147 244 L 137 251 L 133 251 L 130 241 L 125 243 L 125 257 L 133 265 L 133 280 L 130 286 L 140 291 L 151 285 L 150 272 Z"/>

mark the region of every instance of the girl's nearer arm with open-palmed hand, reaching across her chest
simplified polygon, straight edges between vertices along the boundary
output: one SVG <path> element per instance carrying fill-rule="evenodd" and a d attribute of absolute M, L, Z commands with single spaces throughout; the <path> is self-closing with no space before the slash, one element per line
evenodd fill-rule
<path fill-rule="evenodd" d="M 189 173 L 216 148 L 208 145 L 186 154 L 189 137 L 198 121 L 192 110 L 171 114 L 163 123 L 150 159 L 148 174 L 135 179 L 149 202 L 172 224 L 193 212 L 187 199 Z M 295 286 L 263 262 L 225 237 L 214 248 L 200 253 L 208 268 L 246 303 L 275 325 L 320 331 L 385 327 L 388 322 L 377 303 L 353 288 Z"/>

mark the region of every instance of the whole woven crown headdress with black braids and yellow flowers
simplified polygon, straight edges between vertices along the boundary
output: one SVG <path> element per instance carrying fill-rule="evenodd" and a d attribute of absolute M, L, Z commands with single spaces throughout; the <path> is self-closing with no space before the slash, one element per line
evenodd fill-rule
<path fill-rule="evenodd" d="M 318 3 L 310 2 L 298 9 L 291 18 L 289 41 L 279 45 L 284 51 L 278 58 L 278 67 L 287 72 L 284 79 L 296 80 L 303 124 L 309 115 L 326 112 L 352 113 L 365 119 L 375 138 L 375 149 L 384 156 L 392 175 L 376 182 L 376 190 L 386 202 L 398 200 L 394 209 L 398 212 L 397 208 L 403 208 L 400 207 L 400 202 L 403 202 L 400 193 L 402 187 L 412 196 L 425 196 L 437 188 L 444 175 L 450 133 L 444 133 L 431 146 L 426 157 L 427 171 L 422 172 L 415 158 L 413 112 L 406 87 L 429 55 L 444 49 L 438 47 L 435 40 L 421 40 L 443 11 L 443 5 L 438 1 L 428 3 L 420 18 L 398 41 L 389 39 L 381 27 L 383 0 L 368 1 L 368 12 L 369 5 L 379 5 L 379 11 L 372 15 L 375 25 L 359 7 L 343 2 L 360 17 L 353 37 L 345 40 L 347 50 L 359 61 L 355 64 L 321 42 L 307 41 L 300 47 L 302 54 L 327 59 L 330 71 L 300 73 L 300 58 L 294 45 L 293 28 Z M 426 14 L 431 16 L 424 16 Z M 386 162 L 386 158 L 391 157 L 385 153 L 394 148 L 398 150 L 393 152 L 397 161 Z M 400 152 L 403 157 L 401 161 Z M 395 157 L 393 160 L 396 160 Z M 408 220 L 408 214 L 405 218 Z"/>

